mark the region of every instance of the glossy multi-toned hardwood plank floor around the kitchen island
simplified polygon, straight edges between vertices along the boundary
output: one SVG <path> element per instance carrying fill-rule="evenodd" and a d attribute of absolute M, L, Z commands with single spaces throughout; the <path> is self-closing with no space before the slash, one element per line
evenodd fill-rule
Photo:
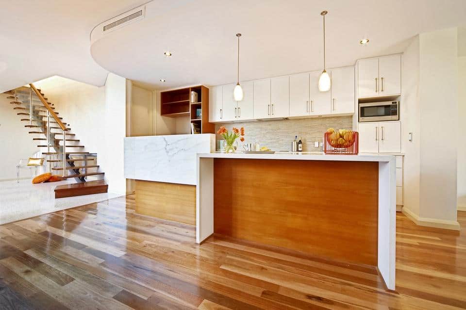
<path fill-rule="evenodd" d="M 0 226 L 0 309 L 465 309 L 460 232 L 397 214 L 397 293 L 374 269 L 134 213 L 134 196 Z"/>

